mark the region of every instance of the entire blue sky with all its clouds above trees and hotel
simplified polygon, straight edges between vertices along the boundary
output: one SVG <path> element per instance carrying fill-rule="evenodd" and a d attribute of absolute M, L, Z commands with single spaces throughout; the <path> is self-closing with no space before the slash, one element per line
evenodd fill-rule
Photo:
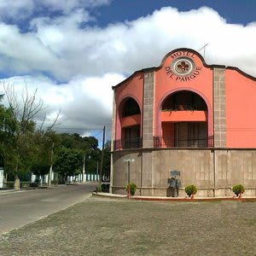
<path fill-rule="evenodd" d="M 111 87 L 172 49 L 200 51 L 207 64 L 256 77 L 253 0 L 0 0 L 0 94 L 38 89 L 46 124 L 59 131 L 111 131 Z M 38 115 L 38 124 L 44 113 Z"/>

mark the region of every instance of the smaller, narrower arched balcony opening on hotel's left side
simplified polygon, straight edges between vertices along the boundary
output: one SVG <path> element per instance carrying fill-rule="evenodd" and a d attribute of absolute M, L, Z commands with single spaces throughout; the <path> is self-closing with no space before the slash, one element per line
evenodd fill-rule
<path fill-rule="evenodd" d="M 141 109 L 135 99 L 127 97 L 119 104 L 119 119 L 121 135 L 115 149 L 141 148 Z"/>

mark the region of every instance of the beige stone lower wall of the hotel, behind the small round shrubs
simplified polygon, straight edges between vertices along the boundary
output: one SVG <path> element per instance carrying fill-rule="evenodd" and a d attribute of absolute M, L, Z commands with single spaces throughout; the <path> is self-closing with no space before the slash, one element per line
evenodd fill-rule
<path fill-rule="evenodd" d="M 136 195 L 172 196 L 170 172 L 180 172 L 179 197 L 184 188 L 195 184 L 198 197 L 232 196 L 232 186 L 241 183 L 244 196 L 256 196 L 256 149 L 140 149 L 113 152 L 112 191 L 126 194 L 128 163 L 130 182 L 137 184 Z"/>

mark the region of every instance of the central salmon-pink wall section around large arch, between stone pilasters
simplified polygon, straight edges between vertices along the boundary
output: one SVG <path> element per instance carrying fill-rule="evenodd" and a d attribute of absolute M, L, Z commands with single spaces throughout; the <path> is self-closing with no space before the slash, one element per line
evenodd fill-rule
<path fill-rule="evenodd" d="M 169 55 L 166 55 L 162 67 L 155 72 L 154 136 L 162 136 L 160 125 L 161 121 L 163 121 L 160 113 L 162 103 L 166 99 L 166 96 L 169 96 L 178 90 L 191 90 L 200 95 L 207 103 L 208 136 L 212 136 L 212 68 L 206 67 L 199 55 L 196 55 L 195 53 L 190 53 L 188 50 L 177 52 L 180 54 L 175 55 L 175 53 L 170 53 Z M 191 78 L 182 79 L 181 77 L 172 74 L 169 67 L 176 57 L 186 56 L 189 56 L 195 62 L 195 75 L 192 73 L 193 76 L 191 76 Z M 179 116 L 178 120 L 187 119 L 187 113 L 183 112 L 179 113 L 179 115 L 184 116 Z"/>

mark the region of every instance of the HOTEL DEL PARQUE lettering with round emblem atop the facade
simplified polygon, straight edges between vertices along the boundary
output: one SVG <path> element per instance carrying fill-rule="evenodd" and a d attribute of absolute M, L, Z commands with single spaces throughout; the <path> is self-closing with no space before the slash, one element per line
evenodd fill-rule
<path fill-rule="evenodd" d="M 201 67 L 195 66 L 195 54 L 187 50 L 172 53 L 172 63 L 165 67 L 166 75 L 175 81 L 187 82 L 201 73 Z"/>

